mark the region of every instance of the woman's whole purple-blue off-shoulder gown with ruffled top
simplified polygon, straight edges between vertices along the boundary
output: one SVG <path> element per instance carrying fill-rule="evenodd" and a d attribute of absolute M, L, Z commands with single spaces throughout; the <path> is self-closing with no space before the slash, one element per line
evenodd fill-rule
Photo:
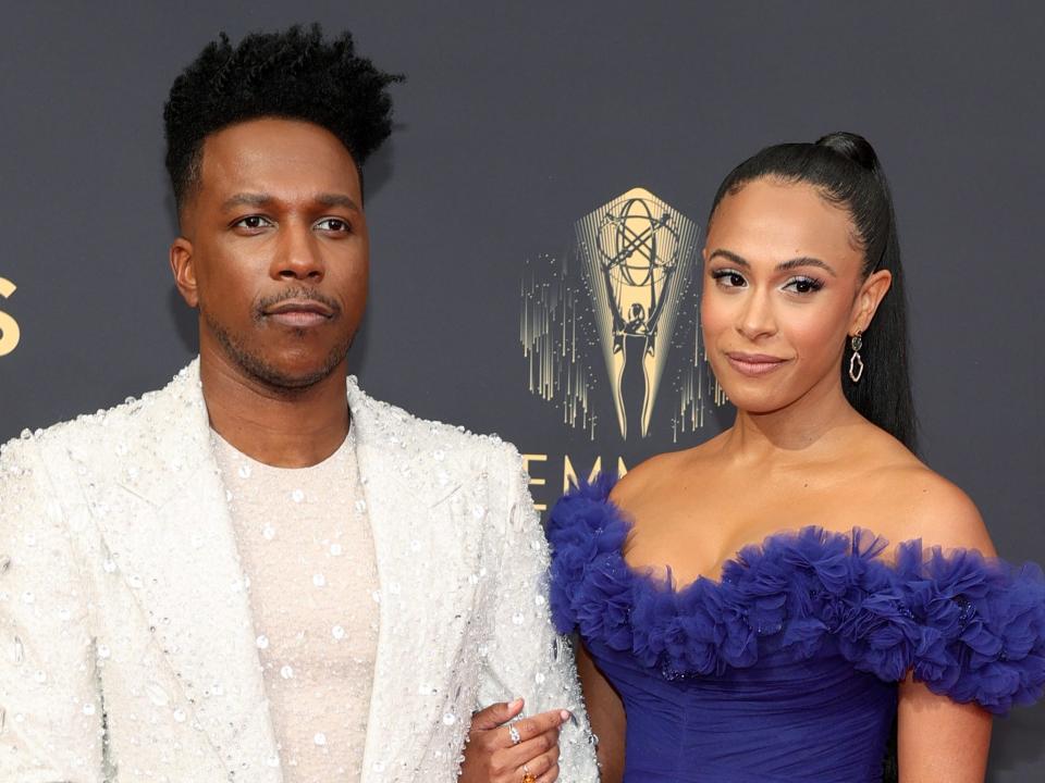
<path fill-rule="evenodd" d="M 551 601 L 627 713 L 626 783 L 873 783 L 909 671 L 1005 713 L 1045 688 L 1045 579 L 974 550 L 806 527 L 720 581 L 631 569 L 611 476 L 552 510 Z"/>

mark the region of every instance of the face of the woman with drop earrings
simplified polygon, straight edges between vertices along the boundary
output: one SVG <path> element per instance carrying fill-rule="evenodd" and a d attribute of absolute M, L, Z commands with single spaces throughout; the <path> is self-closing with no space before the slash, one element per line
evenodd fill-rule
<path fill-rule="evenodd" d="M 770 413 L 815 390 L 841 394 L 848 336 L 866 328 L 890 279 L 863 279 L 862 265 L 849 213 L 810 185 L 755 179 L 718 202 L 701 325 L 738 409 Z"/>

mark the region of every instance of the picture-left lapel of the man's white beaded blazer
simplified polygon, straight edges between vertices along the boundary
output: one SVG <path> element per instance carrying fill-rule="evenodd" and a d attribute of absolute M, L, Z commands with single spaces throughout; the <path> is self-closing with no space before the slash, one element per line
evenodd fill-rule
<path fill-rule="evenodd" d="M 274 783 L 275 739 L 198 364 L 140 406 L 111 459 L 93 450 L 84 464 L 94 515 L 176 676 L 181 692 L 163 698 L 207 734 L 226 770 Z"/>

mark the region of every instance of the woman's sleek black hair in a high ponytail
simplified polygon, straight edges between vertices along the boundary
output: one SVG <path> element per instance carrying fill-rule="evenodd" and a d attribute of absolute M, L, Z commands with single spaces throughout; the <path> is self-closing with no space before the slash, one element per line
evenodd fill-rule
<path fill-rule="evenodd" d="M 863 377 L 859 383 L 849 378 L 848 348 L 839 372 L 843 390 L 852 407 L 914 451 L 917 422 L 908 371 L 900 245 L 893 197 L 874 148 L 862 136 L 851 133 L 828 134 L 815 144 L 766 147 L 729 172 L 715 194 L 712 216 L 725 196 L 766 177 L 811 185 L 824 199 L 846 210 L 856 227 L 855 239 L 863 250 L 863 276 L 878 270 L 893 273 L 893 285 L 863 335 Z"/>

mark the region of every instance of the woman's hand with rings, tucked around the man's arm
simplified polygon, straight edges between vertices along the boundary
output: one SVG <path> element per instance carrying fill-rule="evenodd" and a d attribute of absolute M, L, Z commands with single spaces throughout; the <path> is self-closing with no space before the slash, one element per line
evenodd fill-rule
<path fill-rule="evenodd" d="M 522 699 L 517 698 L 472 716 L 460 783 L 554 783 L 558 728 L 569 712 L 551 710 L 509 722 L 521 711 Z"/>

